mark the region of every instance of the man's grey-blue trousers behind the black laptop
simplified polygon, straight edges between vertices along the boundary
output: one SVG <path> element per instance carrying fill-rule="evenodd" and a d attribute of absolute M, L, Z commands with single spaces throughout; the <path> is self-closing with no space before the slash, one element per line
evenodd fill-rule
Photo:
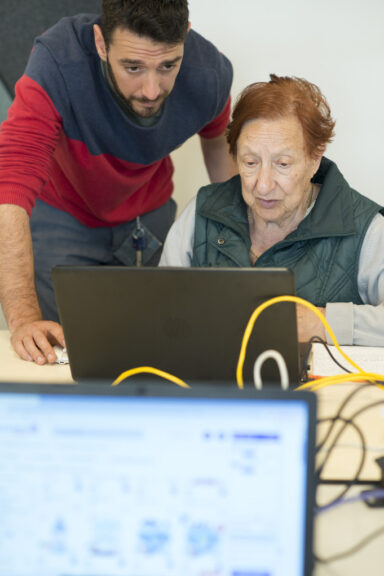
<path fill-rule="evenodd" d="M 143 266 L 157 266 L 175 214 L 176 203 L 171 199 L 140 217 L 145 233 Z M 59 319 L 51 280 L 54 266 L 135 266 L 135 230 L 136 220 L 112 228 L 89 228 L 66 212 L 37 200 L 31 216 L 31 232 L 35 284 L 44 319 Z"/>

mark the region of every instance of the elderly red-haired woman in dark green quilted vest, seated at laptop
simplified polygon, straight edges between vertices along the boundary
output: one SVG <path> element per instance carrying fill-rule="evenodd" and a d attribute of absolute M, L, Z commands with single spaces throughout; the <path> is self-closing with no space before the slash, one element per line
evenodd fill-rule
<path fill-rule="evenodd" d="M 384 218 L 323 157 L 334 121 L 313 84 L 271 75 L 244 90 L 228 129 L 239 175 L 199 190 L 160 265 L 279 266 L 341 344 L 384 346 Z M 300 340 L 325 337 L 298 309 Z"/>

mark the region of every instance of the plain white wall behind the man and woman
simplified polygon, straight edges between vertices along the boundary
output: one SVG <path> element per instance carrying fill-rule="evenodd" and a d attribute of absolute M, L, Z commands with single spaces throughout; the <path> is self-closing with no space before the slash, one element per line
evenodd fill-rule
<path fill-rule="evenodd" d="M 232 95 L 269 73 L 317 84 L 336 119 L 327 155 L 384 204 L 384 0 L 189 0 L 192 27 L 232 61 Z M 208 182 L 198 138 L 174 155 L 182 208 Z"/>

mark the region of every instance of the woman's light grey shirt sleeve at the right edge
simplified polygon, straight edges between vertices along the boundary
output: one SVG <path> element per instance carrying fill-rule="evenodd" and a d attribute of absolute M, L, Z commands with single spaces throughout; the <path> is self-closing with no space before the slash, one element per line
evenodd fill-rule
<path fill-rule="evenodd" d="M 364 304 L 328 303 L 326 318 L 339 344 L 384 346 L 384 217 L 372 220 L 361 247 L 358 289 Z M 328 342 L 331 344 L 329 337 Z"/>

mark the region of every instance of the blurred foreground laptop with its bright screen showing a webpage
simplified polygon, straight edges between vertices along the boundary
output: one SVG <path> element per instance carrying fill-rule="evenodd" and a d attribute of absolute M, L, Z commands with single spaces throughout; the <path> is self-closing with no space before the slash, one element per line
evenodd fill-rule
<path fill-rule="evenodd" d="M 0 385 L 0 574 L 311 574 L 315 397 Z"/>

